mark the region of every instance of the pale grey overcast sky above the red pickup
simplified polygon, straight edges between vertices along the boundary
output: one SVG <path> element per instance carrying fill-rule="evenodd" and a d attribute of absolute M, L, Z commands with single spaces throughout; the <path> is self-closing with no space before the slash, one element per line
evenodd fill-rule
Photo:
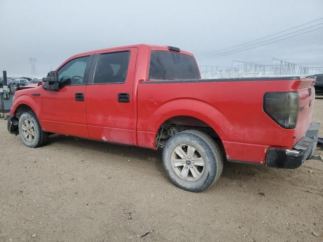
<path fill-rule="evenodd" d="M 199 56 L 323 18 L 323 0 L 0 0 L 0 11 L 0 70 L 10 76 L 30 75 L 29 57 L 46 74 L 75 53 L 137 43 Z M 323 29 L 199 64 L 270 65 L 273 57 L 323 67 Z"/>

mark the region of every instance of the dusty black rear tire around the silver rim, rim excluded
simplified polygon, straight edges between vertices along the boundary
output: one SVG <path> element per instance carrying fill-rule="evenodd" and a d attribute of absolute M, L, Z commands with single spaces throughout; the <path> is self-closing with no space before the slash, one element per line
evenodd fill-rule
<path fill-rule="evenodd" d="M 202 158 L 203 160 L 204 166 L 202 171 L 199 173 L 199 175 L 201 175 L 200 178 L 197 177 L 197 179 L 193 177 L 193 173 L 190 173 L 190 171 L 188 171 L 187 173 L 188 177 L 186 179 L 193 178 L 197 180 L 185 180 L 176 173 L 179 172 L 181 168 L 173 168 L 172 157 L 174 157 L 175 148 L 181 146 L 181 149 L 185 150 L 185 145 L 187 145 L 187 154 L 189 153 L 188 146 L 192 146 L 198 152 L 197 154 L 195 153 L 194 156 L 198 157 L 197 155 L 199 154 L 200 158 Z M 173 160 L 176 160 L 176 162 L 178 162 L 177 160 L 182 160 L 183 163 L 183 159 L 181 159 L 181 157 L 179 157 L 177 153 L 175 154 L 175 156 L 177 158 L 174 158 Z M 187 158 L 184 159 L 185 163 L 183 165 L 182 171 L 185 166 L 188 165 L 189 167 L 187 169 L 191 170 L 192 168 L 192 163 L 190 160 L 194 159 L 186 159 Z M 167 175 L 177 187 L 190 192 L 200 192 L 207 188 L 210 188 L 220 178 L 223 170 L 223 152 L 221 151 L 219 145 L 207 134 L 196 130 L 187 130 L 177 133 L 167 141 L 163 150 L 163 165 Z M 201 170 L 200 166 L 195 167 L 198 167 Z M 189 177 L 190 174 L 191 177 Z"/>

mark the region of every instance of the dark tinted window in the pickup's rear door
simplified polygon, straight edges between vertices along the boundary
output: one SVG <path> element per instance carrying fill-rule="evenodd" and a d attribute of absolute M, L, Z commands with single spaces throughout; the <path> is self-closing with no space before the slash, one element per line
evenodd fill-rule
<path fill-rule="evenodd" d="M 93 83 L 123 83 L 128 73 L 130 51 L 100 54 Z"/>

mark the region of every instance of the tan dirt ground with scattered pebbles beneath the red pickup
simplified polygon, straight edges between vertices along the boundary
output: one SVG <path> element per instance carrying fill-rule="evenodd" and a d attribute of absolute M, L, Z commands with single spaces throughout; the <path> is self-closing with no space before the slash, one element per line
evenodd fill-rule
<path fill-rule="evenodd" d="M 314 109 L 323 125 L 323 99 Z M 190 193 L 168 179 L 160 151 L 65 136 L 30 149 L 3 118 L 0 137 L 0 241 L 323 241 L 317 160 L 226 162 L 216 185 Z"/>

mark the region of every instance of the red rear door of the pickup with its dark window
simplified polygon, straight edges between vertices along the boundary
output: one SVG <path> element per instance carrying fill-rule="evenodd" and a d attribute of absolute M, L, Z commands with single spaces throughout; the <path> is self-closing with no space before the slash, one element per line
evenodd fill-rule
<path fill-rule="evenodd" d="M 91 139 L 132 144 L 133 80 L 137 48 L 95 54 L 86 87 Z"/>

